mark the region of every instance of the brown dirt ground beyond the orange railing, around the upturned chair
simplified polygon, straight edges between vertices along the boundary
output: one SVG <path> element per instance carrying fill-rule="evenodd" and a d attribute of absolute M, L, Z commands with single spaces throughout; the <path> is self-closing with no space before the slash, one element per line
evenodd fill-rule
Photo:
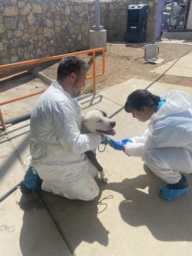
<path fill-rule="evenodd" d="M 185 53 L 191 46 L 182 45 L 182 44 L 158 44 L 159 47 L 159 58 L 165 59 L 165 64 L 169 61 L 173 61 L 179 58 L 183 53 Z M 192 50 L 189 52 L 191 53 Z M 146 62 L 143 58 L 144 50 L 135 48 L 132 46 L 126 47 L 124 45 L 108 45 L 106 51 L 106 72 L 104 75 L 96 78 L 96 89 L 102 89 L 111 85 L 116 85 L 131 78 L 145 79 L 154 81 L 156 77 L 159 76 L 157 73 L 150 72 L 152 69 L 162 65 L 162 64 L 153 64 Z M 82 59 L 87 61 L 92 71 L 92 57 L 88 55 L 81 55 Z M 42 66 L 42 72 L 50 77 L 55 79 L 57 76 L 57 67 L 59 62 L 56 62 L 50 65 L 48 68 Z M 96 56 L 96 73 L 100 73 L 102 69 L 102 56 Z M 91 75 L 89 71 L 89 75 Z M 158 82 L 183 85 L 183 86 L 192 86 L 191 78 L 179 77 L 173 75 L 163 75 Z M 92 85 L 92 79 L 86 81 L 86 86 Z"/>

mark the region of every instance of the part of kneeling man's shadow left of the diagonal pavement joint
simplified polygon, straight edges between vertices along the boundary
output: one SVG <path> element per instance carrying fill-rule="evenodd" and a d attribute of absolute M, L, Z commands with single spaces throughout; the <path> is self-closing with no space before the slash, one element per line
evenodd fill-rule
<path fill-rule="evenodd" d="M 24 212 L 19 238 L 23 256 L 70 255 L 36 193 L 22 195 L 17 204 Z"/>

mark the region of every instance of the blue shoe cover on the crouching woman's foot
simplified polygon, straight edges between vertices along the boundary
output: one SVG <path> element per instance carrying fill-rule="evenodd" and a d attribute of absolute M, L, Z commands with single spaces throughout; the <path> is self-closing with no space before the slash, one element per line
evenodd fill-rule
<path fill-rule="evenodd" d="M 158 194 L 165 200 L 171 201 L 177 199 L 178 197 L 180 197 L 180 195 L 184 194 L 189 189 L 190 186 L 183 189 L 169 189 L 167 187 L 167 184 L 165 184 L 159 189 Z"/>

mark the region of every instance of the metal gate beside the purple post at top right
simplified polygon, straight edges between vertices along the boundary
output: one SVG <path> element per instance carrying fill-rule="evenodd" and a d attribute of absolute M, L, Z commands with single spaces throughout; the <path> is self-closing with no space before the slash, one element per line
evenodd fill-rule
<path fill-rule="evenodd" d="M 162 32 L 186 30 L 189 0 L 165 0 Z"/>

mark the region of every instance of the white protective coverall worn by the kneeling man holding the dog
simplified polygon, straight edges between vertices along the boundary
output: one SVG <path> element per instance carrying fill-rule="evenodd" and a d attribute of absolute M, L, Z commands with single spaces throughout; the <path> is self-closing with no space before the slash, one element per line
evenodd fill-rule
<path fill-rule="evenodd" d="M 81 123 L 81 105 L 53 81 L 31 114 L 29 163 L 43 180 L 42 190 L 92 200 L 99 193 L 97 170 L 84 152 L 95 149 L 101 137 L 80 134 Z"/>

